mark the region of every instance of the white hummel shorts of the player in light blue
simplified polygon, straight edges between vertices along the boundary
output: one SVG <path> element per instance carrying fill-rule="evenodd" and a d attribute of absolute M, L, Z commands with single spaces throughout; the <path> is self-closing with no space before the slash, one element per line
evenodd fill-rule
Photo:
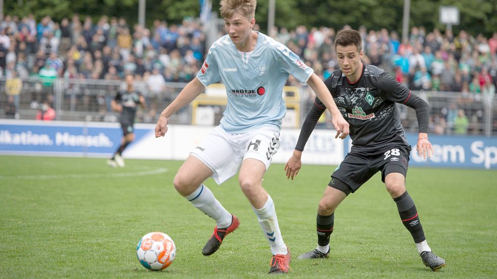
<path fill-rule="evenodd" d="M 213 172 L 211 177 L 221 184 L 237 174 L 246 158 L 261 161 L 267 170 L 278 148 L 280 131 L 277 128 L 262 127 L 243 134 L 228 134 L 217 126 L 190 154 L 207 165 Z"/>

